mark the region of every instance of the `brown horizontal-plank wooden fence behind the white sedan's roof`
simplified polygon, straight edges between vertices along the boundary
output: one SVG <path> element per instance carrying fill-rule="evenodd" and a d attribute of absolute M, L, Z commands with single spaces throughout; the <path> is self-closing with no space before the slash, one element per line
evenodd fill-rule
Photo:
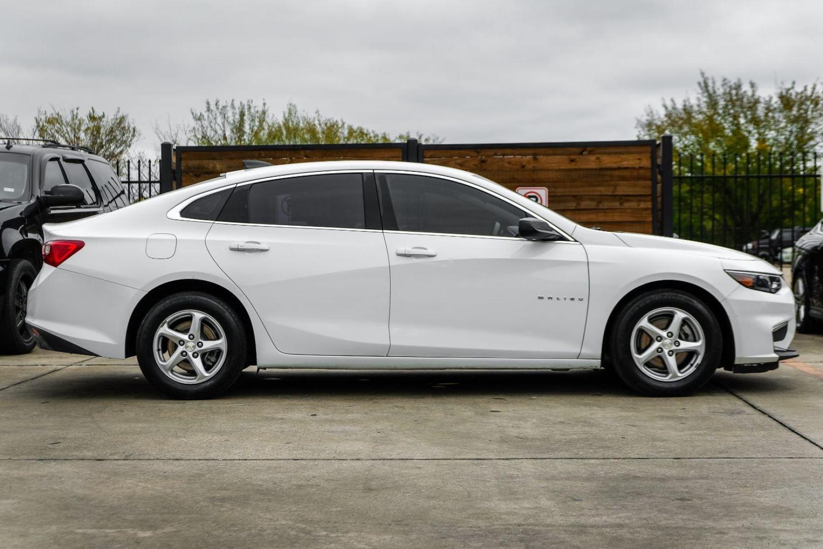
<path fill-rule="evenodd" d="M 244 160 L 293 162 L 411 160 L 480 174 L 512 190 L 546 187 L 548 207 L 584 226 L 659 234 L 655 142 L 516 145 L 306 145 L 177 147 L 177 185 L 241 170 Z M 653 192 L 653 189 L 654 192 Z"/>

